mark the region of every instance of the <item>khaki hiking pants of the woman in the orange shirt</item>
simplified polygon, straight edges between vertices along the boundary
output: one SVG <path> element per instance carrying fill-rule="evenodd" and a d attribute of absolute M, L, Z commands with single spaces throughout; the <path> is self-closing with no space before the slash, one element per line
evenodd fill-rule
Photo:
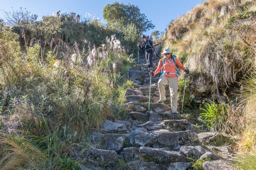
<path fill-rule="evenodd" d="M 159 94 L 160 94 L 160 100 L 165 100 L 165 85 L 169 83 L 169 89 L 171 94 L 171 108 L 172 112 L 177 111 L 177 91 L 178 91 L 178 77 L 165 77 L 162 76 L 158 80 L 158 88 L 159 88 Z"/>

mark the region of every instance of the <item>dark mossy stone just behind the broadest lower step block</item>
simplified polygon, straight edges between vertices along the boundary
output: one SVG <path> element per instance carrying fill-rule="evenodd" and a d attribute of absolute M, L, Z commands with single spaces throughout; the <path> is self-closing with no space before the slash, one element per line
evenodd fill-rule
<path fill-rule="evenodd" d="M 188 120 L 182 119 L 182 120 L 165 120 L 165 125 L 169 128 L 174 128 L 175 131 L 186 131 L 190 130 L 192 132 L 195 131 L 193 125 Z"/>

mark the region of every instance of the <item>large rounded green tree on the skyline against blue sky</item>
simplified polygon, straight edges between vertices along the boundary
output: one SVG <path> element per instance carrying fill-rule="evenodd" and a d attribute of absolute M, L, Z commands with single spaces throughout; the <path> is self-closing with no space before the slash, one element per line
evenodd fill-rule
<path fill-rule="evenodd" d="M 115 2 L 107 4 L 103 8 L 103 18 L 107 21 L 109 27 L 122 31 L 128 24 L 135 24 L 138 32 L 145 32 L 153 29 L 155 26 L 147 19 L 145 14 L 141 14 L 137 6 Z"/>

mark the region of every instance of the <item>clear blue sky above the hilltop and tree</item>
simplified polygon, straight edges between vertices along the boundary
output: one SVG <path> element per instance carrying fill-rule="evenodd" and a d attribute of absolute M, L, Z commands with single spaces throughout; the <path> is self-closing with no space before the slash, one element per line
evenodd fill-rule
<path fill-rule="evenodd" d="M 117 0 L 3 0 L 0 4 L 0 10 L 14 11 L 20 7 L 26 8 L 32 14 L 37 14 L 39 18 L 49 16 L 56 11 L 75 12 L 84 20 L 85 15 L 90 13 L 92 17 L 103 20 L 103 8 L 107 4 L 112 4 Z M 138 6 L 141 13 L 147 16 L 155 25 L 155 28 L 146 32 L 146 35 L 154 30 L 160 32 L 165 31 L 170 22 L 178 16 L 187 13 L 194 6 L 202 4 L 205 0 L 118 0 L 123 4 L 132 4 Z M 0 11 L 0 18 L 4 18 L 5 14 Z"/>

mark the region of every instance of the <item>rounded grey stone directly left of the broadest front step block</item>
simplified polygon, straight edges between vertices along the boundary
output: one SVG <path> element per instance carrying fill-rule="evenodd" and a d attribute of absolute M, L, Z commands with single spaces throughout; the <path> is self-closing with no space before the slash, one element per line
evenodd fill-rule
<path fill-rule="evenodd" d="M 151 146 L 156 142 L 156 135 L 139 130 L 133 130 L 127 138 L 134 146 Z"/>

